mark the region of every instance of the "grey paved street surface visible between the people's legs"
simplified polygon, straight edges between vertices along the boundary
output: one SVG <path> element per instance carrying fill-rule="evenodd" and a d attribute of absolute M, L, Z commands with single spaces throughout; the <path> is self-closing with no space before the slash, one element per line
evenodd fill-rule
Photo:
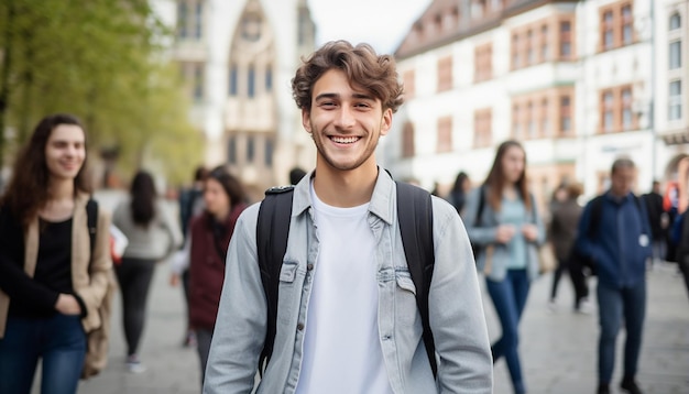
<path fill-rule="evenodd" d="M 141 346 L 147 371 L 130 374 L 124 369 L 120 300 L 116 300 L 110 361 L 99 376 L 80 386 L 83 394 L 198 393 L 198 359 L 194 349 L 181 347 L 184 331 L 179 288 L 167 285 L 168 267 L 158 265 L 152 288 L 149 321 Z M 595 315 L 573 314 L 571 286 L 564 278 L 559 309 L 547 309 L 551 277 L 532 287 L 522 322 L 522 363 L 529 393 L 580 394 L 595 391 Z M 500 327 L 484 293 L 491 338 Z M 621 376 L 620 336 L 615 384 Z M 648 274 L 648 308 L 638 381 L 645 393 L 689 393 L 689 299 L 675 265 Z M 613 393 L 616 393 L 615 385 Z M 495 393 L 511 393 L 504 361 L 495 365 Z"/>

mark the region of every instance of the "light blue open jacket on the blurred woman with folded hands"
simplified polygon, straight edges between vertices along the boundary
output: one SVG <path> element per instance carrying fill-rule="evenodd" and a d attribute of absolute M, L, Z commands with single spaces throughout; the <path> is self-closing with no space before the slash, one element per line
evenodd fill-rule
<path fill-rule="evenodd" d="M 486 264 L 486 247 L 493 247 L 493 253 L 491 255 L 491 269 L 490 272 L 485 274 L 488 278 L 491 281 L 502 281 L 505 278 L 507 274 L 507 261 L 511 258 L 510 250 L 504 243 L 499 243 L 495 240 L 495 230 L 497 226 L 502 222 L 500 212 L 495 212 L 491 205 L 488 203 L 488 199 L 483 204 L 483 211 L 481 212 L 481 222 L 480 226 L 477 225 L 477 215 L 479 211 L 479 201 L 480 198 L 484 198 L 481 196 L 481 188 L 477 187 L 471 190 L 469 194 L 469 198 L 467 198 L 467 204 L 464 205 L 464 210 L 462 211 L 462 217 L 464 222 L 467 223 L 467 232 L 469 233 L 469 238 L 471 242 L 474 242 L 481 245 L 481 251 L 477 256 L 477 266 L 480 272 L 483 272 Z M 532 201 L 534 198 L 532 196 Z M 538 214 L 537 207 L 534 205 L 533 214 L 527 212 L 527 220 L 536 225 L 538 228 L 538 238 L 536 242 L 528 242 L 527 248 L 527 256 L 526 256 L 526 272 L 528 274 L 529 281 L 535 280 L 539 275 L 539 264 L 538 259 L 538 248 L 543 245 L 546 240 L 546 231 L 543 226 L 543 220 L 540 215 Z"/>

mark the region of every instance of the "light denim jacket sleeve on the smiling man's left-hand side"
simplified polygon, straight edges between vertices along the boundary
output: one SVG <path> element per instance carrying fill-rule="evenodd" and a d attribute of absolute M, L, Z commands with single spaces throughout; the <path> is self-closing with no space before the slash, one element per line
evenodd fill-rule
<path fill-rule="evenodd" d="M 241 214 L 230 241 L 205 394 L 248 394 L 254 386 L 266 329 L 265 295 L 255 245 L 258 210 L 259 204 L 254 204 Z"/>

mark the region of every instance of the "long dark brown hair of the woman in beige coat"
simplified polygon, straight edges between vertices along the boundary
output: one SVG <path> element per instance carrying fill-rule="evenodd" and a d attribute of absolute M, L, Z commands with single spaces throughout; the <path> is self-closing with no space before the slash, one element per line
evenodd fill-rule
<path fill-rule="evenodd" d="M 56 113 L 43 118 L 31 135 L 29 143 L 17 156 L 12 171 L 12 178 L 2 196 L 0 205 L 11 209 L 24 227 L 37 215 L 39 210 L 51 199 L 48 190 L 50 171 L 45 161 L 45 146 L 53 130 L 61 124 L 78 125 L 86 130 L 75 116 Z M 86 173 L 88 154 L 84 157 L 81 168 L 74 178 L 74 191 L 90 193 Z"/>

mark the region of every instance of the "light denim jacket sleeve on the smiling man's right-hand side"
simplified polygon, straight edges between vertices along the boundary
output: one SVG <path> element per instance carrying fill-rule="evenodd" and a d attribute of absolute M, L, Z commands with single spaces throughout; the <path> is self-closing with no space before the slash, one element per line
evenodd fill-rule
<path fill-rule="evenodd" d="M 493 365 L 471 245 L 455 209 L 434 198 L 436 265 L 429 321 L 439 393 L 492 393 Z"/>

